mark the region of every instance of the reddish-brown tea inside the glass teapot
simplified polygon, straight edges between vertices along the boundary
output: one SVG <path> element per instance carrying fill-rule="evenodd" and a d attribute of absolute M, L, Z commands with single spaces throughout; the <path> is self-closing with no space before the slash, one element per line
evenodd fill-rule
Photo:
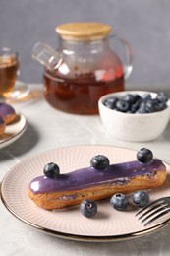
<path fill-rule="evenodd" d="M 97 114 L 101 96 L 124 90 L 123 76 L 112 81 L 96 81 L 91 73 L 61 81 L 49 75 L 44 73 L 44 96 L 53 107 L 68 113 Z"/>

